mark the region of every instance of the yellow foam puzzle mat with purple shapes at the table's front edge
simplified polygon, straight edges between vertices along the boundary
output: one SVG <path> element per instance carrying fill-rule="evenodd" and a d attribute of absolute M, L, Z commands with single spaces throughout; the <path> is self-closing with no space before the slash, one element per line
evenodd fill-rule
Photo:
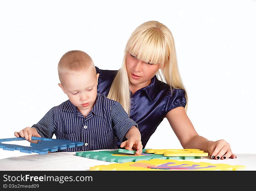
<path fill-rule="evenodd" d="M 116 163 L 109 165 L 97 165 L 90 167 L 91 171 L 96 170 L 245 170 L 246 166 L 243 165 L 229 165 L 229 164 L 212 164 L 206 162 L 193 162 L 193 161 L 177 161 L 172 159 L 150 159 L 149 161 L 137 161 Z"/>

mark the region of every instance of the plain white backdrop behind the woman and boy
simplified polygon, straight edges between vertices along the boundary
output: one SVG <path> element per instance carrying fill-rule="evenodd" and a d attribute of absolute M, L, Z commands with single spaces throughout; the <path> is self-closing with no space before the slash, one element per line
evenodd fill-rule
<path fill-rule="evenodd" d="M 0 139 L 68 99 L 57 72 L 65 52 L 83 50 L 95 66 L 118 70 L 133 30 L 157 20 L 173 34 L 198 134 L 256 153 L 255 19 L 255 0 L 1 1 Z M 182 147 L 164 119 L 146 148 Z M 20 155 L 0 149 L 0 158 Z"/>

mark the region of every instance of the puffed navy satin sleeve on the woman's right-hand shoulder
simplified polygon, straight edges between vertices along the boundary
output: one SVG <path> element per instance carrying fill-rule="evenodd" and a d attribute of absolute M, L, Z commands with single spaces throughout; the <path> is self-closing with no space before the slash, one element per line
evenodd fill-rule
<path fill-rule="evenodd" d="M 183 89 L 175 89 L 172 88 L 172 93 L 168 94 L 166 98 L 166 105 L 164 109 L 164 116 L 172 109 L 177 107 L 184 107 L 186 106 L 186 98 L 185 98 L 185 91 Z"/>

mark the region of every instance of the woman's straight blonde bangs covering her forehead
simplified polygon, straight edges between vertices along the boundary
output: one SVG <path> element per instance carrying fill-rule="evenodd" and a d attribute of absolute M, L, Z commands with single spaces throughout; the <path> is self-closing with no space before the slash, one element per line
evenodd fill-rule
<path fill-rule="evenodd" d="M 146 31 L 131 35 L 126 50 L 144 62 L 163 66 L 169 59 L 166 47 L 162 32 L 157 28 L 147 28 Z"/>

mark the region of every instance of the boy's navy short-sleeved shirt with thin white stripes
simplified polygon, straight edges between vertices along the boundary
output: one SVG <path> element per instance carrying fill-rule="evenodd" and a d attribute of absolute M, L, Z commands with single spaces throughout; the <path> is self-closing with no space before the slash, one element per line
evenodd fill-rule
<path fill-rule="evenodd" d="M 80 147 L 57 152 L 116 149 L 116 141 L 124 140 L 125 134 L 132 126 L 138 128 L 122 105 L 100 93 L 97 93 L 93 109 L 87 117 L 67 100 L 51 108 L 37 124 L 32 125 L 41 137 L 52 138 L 55 134 L 56 139 L 85 143 Z"/>

